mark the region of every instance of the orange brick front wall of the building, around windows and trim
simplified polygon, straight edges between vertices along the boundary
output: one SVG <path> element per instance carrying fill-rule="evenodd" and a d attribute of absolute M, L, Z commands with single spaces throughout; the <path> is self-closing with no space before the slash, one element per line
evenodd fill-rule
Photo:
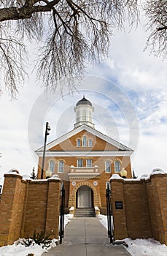
<path fill-rule="evenodd" d="M 92 129 L 91 131 L 94 132 L 95 129 Z M 115 173 L 114 162 L 116 160 L 120 162 L 120 169 L 125 167 L 125 170 L 127 170 L 127 178 L 131 178 L 130 156 L 121 155 L 124 154 L 124 152 L 122 153 L 120 148 L 109 143 L 105 135 L 104 138 L 106 138 L 106 140 L 99 138 L 97 135 L 93 134 L 93 132 L 82 129 L 82 131 L 76 132 L 76 134 L 72 136 L 69 135 L 69 138 L 66 138 L 60 143 L 55 143 L 55 146 L 51 145 L 47 150 L 44 161 L 43 178 L 46 178 L 46 172 L 49 169 L 49 163 L 50 161 L 53 161 L 55 163 L 54 173 L 58 174 L 58 176 L 64 182 L 64 186 L 66 189 L 66 213 L 69 212 L 69 208 L 71 206 L 76 208 L 77 189 L 79 189 L 79 187 L 81 186 L 86 185 L 90 187 L 93 191 L 93 206 L 98 206 L 101 210 L 101 214 L 106 214 L 106 181 L 109 181 L 109 178 L 112 176 L 112 174 Z M 85 136 L 87 140 L 92 140 L 91 147 L 77 146 L 77 140 L 82 140 L 83 136 Z M 65 154 L 66 152 L 69 153 L 67 154 L 67 156 Z M 74 154 L 74 152 L 76 152 L 76 155 Z M 98 152 L 101 152 L 101 154 L 98 154 Z M 111 152 L 111 155 L 109 154 L 109 152 Z M 114 155 L 112 155 L 112 152 L 114 152 Z M 106 154 L 106 156 L 104 156 L 104 154 Z M 77 170 L 77 159 L 82 159 L 83 161 L 83 167 L 80 168 L 82 169 L 82 171 Z M 97 169 L 95 171 L 95 175 L 89 176 L 88 178 L 87 176 L 85 176 L 85 173 L 88 174 L 88 168 L 86 168 L 87 159 L 91 159 L 94 171 L 95 169 Z M 63 173 L 58 173 L 58 162 L 61 160 L 64 163 L 64 170 Z M 109 173 L 105 171 L 106 161 L 111 162 L 111 172 Z M 72 175 L 72 167 L 75 168 L 75 177 L 73 176 L 72 178 L 70 178 L 69 174 Z M 42 156 L 39 154 L 38 178 L 41 177 L 41 169 Z M 90 171 L 92 172 L 93 170 Z M 79 176 L 81 174 L 82 176 Z M 73 181 L 76 183 L 76 185 L 72 185 Z M 94 181 L 96 181 L 96 186 L 94 185 Z"/>

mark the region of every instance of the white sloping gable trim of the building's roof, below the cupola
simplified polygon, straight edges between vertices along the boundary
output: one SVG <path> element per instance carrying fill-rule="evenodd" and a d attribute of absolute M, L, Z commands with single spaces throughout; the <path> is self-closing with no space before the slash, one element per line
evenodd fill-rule
<path fill-rule="evenodd" d="M 131 148 L 124 146 L 123 144 L 117 142 L 117 140 L 113 140 L 112 138 L 109 138 L 108 136 L 104 135 L 101 132 L 98 132 L 96 129 L 93 129 L 92 127 L 89 127 L 86 124 L 82 124 L 80 127 L 77 127 L 76 129 L 71 130 L 70 132 L 66 133 L 65 135 L 62 135 L 60 138 L 55 139 L 52 142 L 48 143 L 46 146 L 46 150 L 49 151 L 50 148 L 57 146 L 58 144 L 62 143 L 64 140 L 67 140 L 67 139 L 71 138 L 72 136 L 77 135 L 77 133 L 82 132 L 83 130 L 86 130 L 87 132 L 90 132 L 91 134 L 97 136 L 98 138 L 101 138 L 102 140 L 106 141 L 106 143 L 109 143 L 109 144 L 117 147 L 120 151 L 133 152 L 133 150 Z M 44 149 L 44 147 L 37 149 L 35 151 L 36 154 L 43 151 L 43 149 Z"/>

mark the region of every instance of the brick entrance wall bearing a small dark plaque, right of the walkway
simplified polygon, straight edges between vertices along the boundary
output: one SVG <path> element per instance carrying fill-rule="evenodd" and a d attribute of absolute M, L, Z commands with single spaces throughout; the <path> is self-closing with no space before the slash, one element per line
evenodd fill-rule
<path fill-rule="evenodd" d="M 114 239 L 155 238 L 167 244 L 167 174 L 149 180 L 112 179 Z M 115 202 L 122 201 L 123 209 Z"/>

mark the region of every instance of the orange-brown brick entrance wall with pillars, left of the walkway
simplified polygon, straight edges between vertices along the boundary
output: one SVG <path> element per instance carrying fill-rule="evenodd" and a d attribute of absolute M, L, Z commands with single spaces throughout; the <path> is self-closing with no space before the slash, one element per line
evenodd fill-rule
<path fill-rule="evenodd" d="M 4 175 L 0 201 L 0 246 L 43 231 L 58 238 L 61 181 L 24 181 L 18 174 Z"/>

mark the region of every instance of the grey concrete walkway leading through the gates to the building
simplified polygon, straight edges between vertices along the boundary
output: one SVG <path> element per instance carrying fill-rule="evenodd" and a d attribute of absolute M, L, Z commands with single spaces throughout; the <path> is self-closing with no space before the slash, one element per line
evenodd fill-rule
<path fill-rule="evenodd" d="M 45 253 L 43 256 L 46 255 Z M 109 244 L 107 230 L 97 218 L 74 218 L 65 228 L 63 244 L 46 256 L 114 256 L 130 254 L 123 246 Z"/>

